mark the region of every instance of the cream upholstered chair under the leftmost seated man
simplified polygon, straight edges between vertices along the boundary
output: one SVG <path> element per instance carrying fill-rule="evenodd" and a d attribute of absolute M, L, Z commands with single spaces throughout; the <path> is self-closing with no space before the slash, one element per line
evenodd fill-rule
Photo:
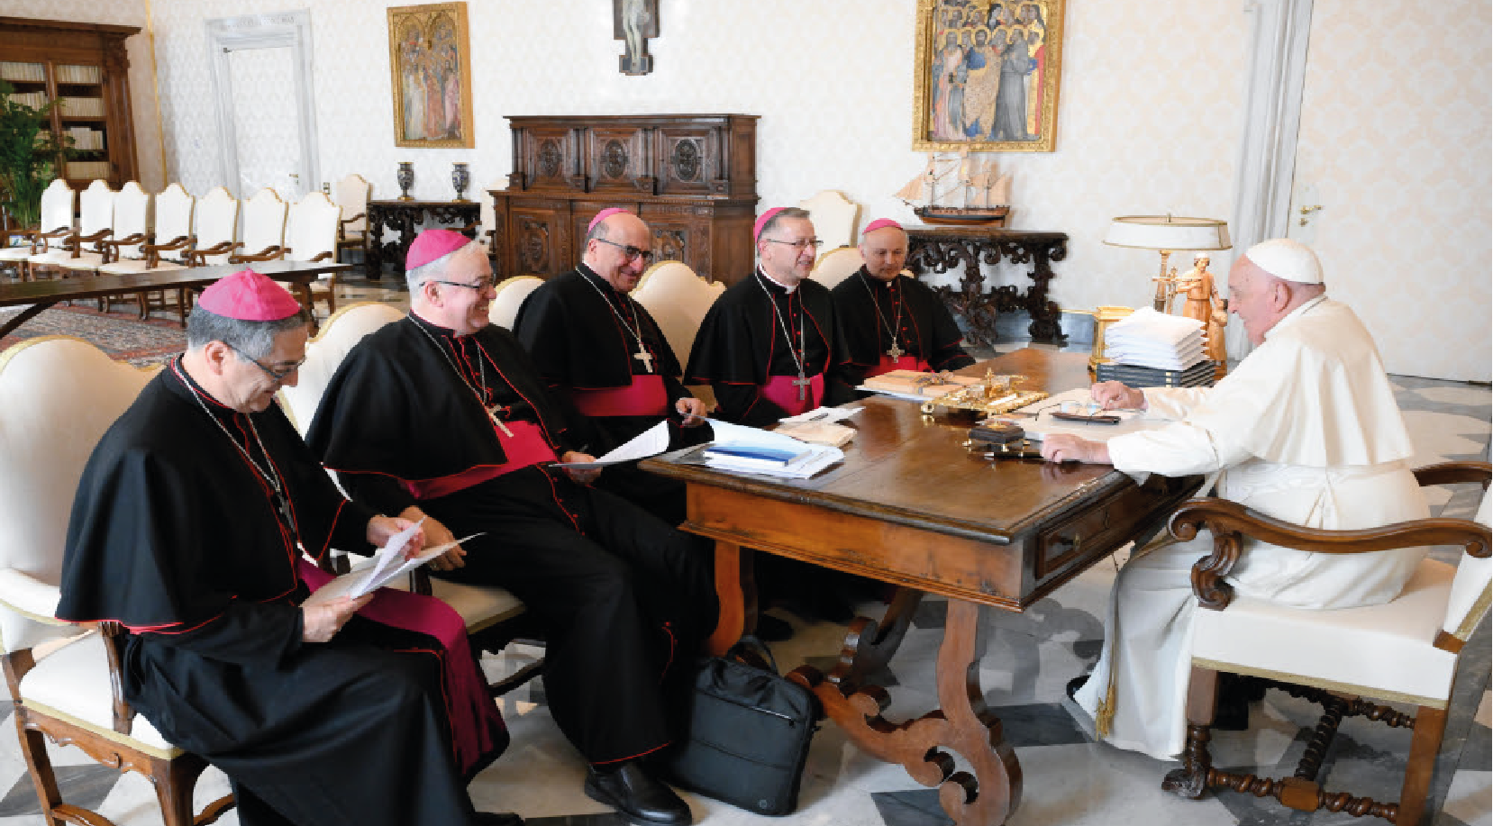
<path fill-rule="evenodd" d="M 63 802 L 46 741 L 149 777 L 169 826 L 193 825 L 193 786 L 206 768 L 167 742 L 119 696 L 118 626 L 88 630 L 57 611 L 67 517 L 94 445 L 152 372 L 112 361 L 63 336 L 0 354 L 0 648 L 16 730 L 46 823 L 109 823 Z M 233 805 L 209 804 L 197 823 Z"/>

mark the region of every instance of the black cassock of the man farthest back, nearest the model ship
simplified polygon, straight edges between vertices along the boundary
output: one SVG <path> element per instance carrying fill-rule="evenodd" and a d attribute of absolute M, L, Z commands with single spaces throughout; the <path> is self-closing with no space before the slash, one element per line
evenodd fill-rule
<path fill-rule="evenodd" d="M 891 350 L 893 327 L 897 348 L 935 370 L 957 370 L 975 363 L 960 347 L 963 336 L 948 308 L 921 281 L 897 276 L 888 284 L 860 267 L 836 284 L 832 296 L 850 360 L 861 370 L 873 370 Z"/>

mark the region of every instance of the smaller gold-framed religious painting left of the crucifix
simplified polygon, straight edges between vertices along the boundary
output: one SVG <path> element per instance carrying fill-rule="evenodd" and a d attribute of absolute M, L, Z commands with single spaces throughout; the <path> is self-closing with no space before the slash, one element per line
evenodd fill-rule
<path fill-rule="evenodd" d="M 388 9 L 396 146 L 476 145 L 467 42 L 466 3 Z"/>

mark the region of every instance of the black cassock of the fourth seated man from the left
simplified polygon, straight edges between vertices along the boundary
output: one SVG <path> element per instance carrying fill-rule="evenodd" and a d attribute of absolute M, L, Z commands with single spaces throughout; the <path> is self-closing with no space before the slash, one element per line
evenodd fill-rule
<path fill-rule="evenodd" d="M 806 376 L 824 376 L 821 405 L 855 397 L 860 381 L 848 364 L 830 291 L 805 279 L 788 293 L 757 270 L 711 305 L 684 375 L 690 384 L 711 385 L 721 420 L 764 427 L 788 414 L 763 394 L 763 385 L 769 376 L 796 376 L 800 366 Z"/>

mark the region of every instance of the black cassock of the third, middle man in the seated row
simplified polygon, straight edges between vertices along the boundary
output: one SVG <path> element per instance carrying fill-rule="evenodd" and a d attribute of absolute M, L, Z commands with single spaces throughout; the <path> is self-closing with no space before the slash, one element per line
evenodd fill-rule
<path fill-rule="evenodd" d="M 557 275 L 529 294 L 518 308 L 514 335 L 529 350 L 545 384 L 570 394 L 585 408 L 596 444 L 585 453 L 602 456 L 643 430 L 669 423 L 669 450 L 708 439 L 708 427 L 679 427 L 673 405 L 690 391 L 679 384 L 679 360 L 648 309 L 626 293 L 618 293 L 585 264 Z M 639 341 L 648 363 L 638 358 Z M 615 390 L 633 384 L 635 376 L 654 376 L 663 385 L 663 415 L 629 415 L 608 403 L 593 400 L 596 390 Z M 636 462 L 612 465 L 596 482 L 648 512 L 679 524 L 684 521 L 684 482 L 640 471 Z"/>

